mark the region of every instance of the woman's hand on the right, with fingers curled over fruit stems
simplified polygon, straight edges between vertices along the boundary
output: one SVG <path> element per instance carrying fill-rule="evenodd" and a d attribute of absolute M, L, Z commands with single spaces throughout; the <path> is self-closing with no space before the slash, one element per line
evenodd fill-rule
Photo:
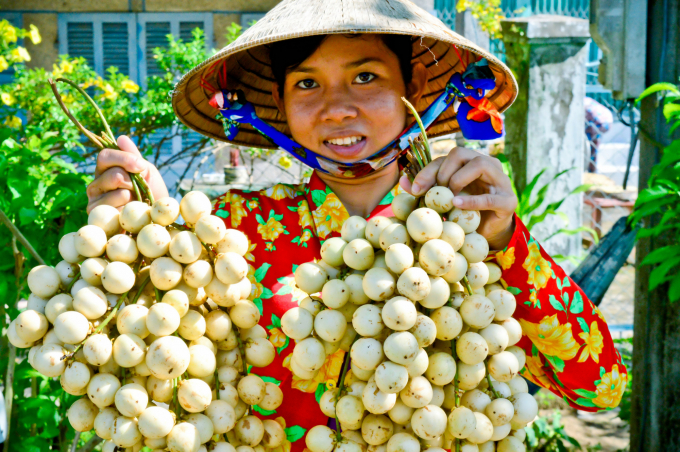
<path fill-rule="evenodd" d="M 413 185 L 406 176 L 399 182 L 414 196 L 424 195 L 434 185 L 448 187 L 454 195 L 465 190 L 469 196 L 456 196 L 453 204 L 463 210 L 480 211 L 482 221 L 477 232 L 489 241 L 489 248 L 501 250 L 510 242 L 515 231 L 517 196 L 498 159 L 456 147 L 423 168 Z"/>

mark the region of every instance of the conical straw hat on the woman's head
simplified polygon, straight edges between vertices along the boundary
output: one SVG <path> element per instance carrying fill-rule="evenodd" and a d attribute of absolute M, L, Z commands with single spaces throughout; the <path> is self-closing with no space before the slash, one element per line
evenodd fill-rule
<path fill-rule="evenodd" d="M 271 95 L 274 75 L 269 47 L 276 41 L 311 35 L 376 33 L 413 36 L 413 63 L 427 68 L 428 85 L 416 108 L 423 111 L 444 90 L 455 72 L 486 58 L 496 76 L 496 88 L 486 98 L 499 111 L 517 96 L 517 82 L 498 58 L 454 33 L 436 17 L 408 0 L 283 0 L 238 39 L 185 74 L 175 86 L 172 107 L 191 129 L 221 141 L 275 148 L 249 125 L 227 140 L 219 113 L 208 101 L 216 89 L 243 90 L 257 115 L 290 136 L 288 125 Z M 462 61 L 461 61 L 462 60 Z M 226 68 L 226 80 L 225 80 Z M 431 137 L 459 131 L 452 108 L 428 131 Z"/>

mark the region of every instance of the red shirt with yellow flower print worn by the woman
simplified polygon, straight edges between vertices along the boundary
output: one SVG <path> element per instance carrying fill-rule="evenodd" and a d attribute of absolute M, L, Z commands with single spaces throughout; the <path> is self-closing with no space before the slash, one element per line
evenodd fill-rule
<path fill-rule="evenodd" d="M 397 185 L 368 218 L 393 216 L 391 202 L 400 192 Z M 316 173 L 308 184 L 230 191 L 216 200 L 214 213 L 250 240 L 246 254 L 250 298 L 277 351 L 272 364 L 252 371 L 280 386 L 283 404 L 275 411 L 259 407 L 255 411 L 285 427 L 288 439 L 275 452 L 302 451 L 305 432 L 328 421 L 317 401 L 335 386 L 345 352 L 329 356 L 313 380 L 297 378 L 290 370 L 294 344 L 281 331 L 281 316 L 307 296 L 296 287 L 293 272 L 298 265 L 321 258 L 322 241 L 340 236 L 349 214 Z M 617 406 L 627 373 L 604 317 L 521 221 L 515 221 L 508 246 L 490 258 L 501 266 L 501 283 L 517 299 L 514 317 L 524 331 L 518 345 L 527 354 L 522 374 L 576 408 L 597 411 Z"/>

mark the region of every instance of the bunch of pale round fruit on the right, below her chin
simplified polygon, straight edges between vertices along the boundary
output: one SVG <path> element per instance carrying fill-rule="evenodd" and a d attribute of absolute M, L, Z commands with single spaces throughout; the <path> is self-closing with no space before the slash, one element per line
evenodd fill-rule
<path fill-rule="evenodd" d="M 296 269 L 298 287 L 321 294 L 281 319 L 296 341 L 293 372 L 313 378 L 338 349 L 351 358 L 347 379 L 345 363 L 319 402 L 341 433 L 313 427 L 312 452 L 525 450 L 523 428 L 538 407 L 518 375 L 515 298 L 498 284 L 500 268 L 483 262 L 479 212 L 453 199 L 434 187 L 417 208 L 399 194 L 396 217 L 350 217 L 342 238 L 323 243 L 321 261 Z"/>

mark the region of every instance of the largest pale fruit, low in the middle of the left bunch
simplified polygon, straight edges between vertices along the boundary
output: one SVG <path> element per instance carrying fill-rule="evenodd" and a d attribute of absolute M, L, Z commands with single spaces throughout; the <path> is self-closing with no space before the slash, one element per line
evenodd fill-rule
<path fill-rule="evenodd" d="M 156 339 L 146 352 L 146 365 L 151 375 L 162 380 L 182 375 L 189 367 L 190 361 L 189 348 L 177 336 Z"/>

